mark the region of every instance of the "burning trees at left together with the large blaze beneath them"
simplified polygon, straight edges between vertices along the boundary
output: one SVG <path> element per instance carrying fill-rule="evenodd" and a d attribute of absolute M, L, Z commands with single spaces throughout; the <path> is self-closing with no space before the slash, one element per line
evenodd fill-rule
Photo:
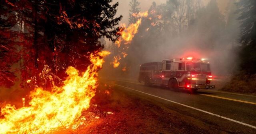
<path fill-rule="evenodd" d="M 1 134 L 77 128 L 109 54 L 99 39 L 118 38 L 121 17 L 112 0 L 2 0 L 0 84 L 30 92 L 25 107 L 1 107 Z M 21 72 L 21 76 L 16 76 Z M 25 99 L 21 96 L 20 101 Z M 28 100 L 28 101 L 27 101 Z"/>

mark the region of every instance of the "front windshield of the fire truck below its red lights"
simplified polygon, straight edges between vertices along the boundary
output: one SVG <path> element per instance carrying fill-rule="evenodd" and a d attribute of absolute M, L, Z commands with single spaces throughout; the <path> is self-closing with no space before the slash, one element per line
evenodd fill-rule
<path fill-rule="evenodd" d="M 210 71 L 210 64 L 207 63 L 196 63 L 196 62 L 187 62 L 186 63 L 187 71 Z"/>

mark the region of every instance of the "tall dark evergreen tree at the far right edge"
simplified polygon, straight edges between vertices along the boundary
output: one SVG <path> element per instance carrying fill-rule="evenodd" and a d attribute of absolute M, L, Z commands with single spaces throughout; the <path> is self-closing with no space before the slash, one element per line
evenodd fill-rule
<path fill-rule="evenodd" d="M 256 74 L 256 0 L 240 0 L 237 3 L 240 16 L 240 67 L 247 74 Z"/>

